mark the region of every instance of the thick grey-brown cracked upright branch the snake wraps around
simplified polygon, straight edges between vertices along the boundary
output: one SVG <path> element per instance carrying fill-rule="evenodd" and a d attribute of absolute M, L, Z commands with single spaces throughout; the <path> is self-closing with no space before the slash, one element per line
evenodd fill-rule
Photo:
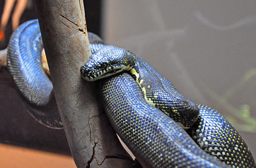
<path fill-rule="evenodd" d="M 91 54 L 83 1 L 35 0 L 35 4 L 54 94 L 76 165 L 132 167 L 98 104 L 95 85 L 80 77 L 80 66 Z"/>

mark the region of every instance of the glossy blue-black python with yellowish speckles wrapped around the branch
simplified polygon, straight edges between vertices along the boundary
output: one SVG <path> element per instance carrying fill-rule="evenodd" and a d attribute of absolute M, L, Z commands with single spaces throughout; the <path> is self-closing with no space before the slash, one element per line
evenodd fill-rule
<path fill-rule="evenodd" d="M 89 33 L 89 37 L 90 43 L 102 43 L 101 39 L 94 34 Z M 17 88 L 24 96 L 29 113 L 41 124 L 51 128 L 61 128 L 52 83 L 41 66 L 42 47 L 37 20 L 23 23 L 14 31 L 9 41 L 8 69 Z M 131 67 L 128 69 L 131 69 L 131 74 L 139 85 L 130 74 L 125 72 L 103 78 L 98 85 L 106 114 L 114 129 L 142 165 L 151 167 L 225 167 L 228 165 L 256 167 L 244 140 L 215 109 L 194 104 L 183 97 L 169 81 L 128 50 L 103 44 L 90 44 L 90 47 L 94 54 L 87 67 L 93 68 L 92 65 L 95 65 L 95 69 L 101 66 L 105 72 L 107 68 L 111 73 L 119 70 L 109 68 L 103 64 L 105 62 L 97 63 L 97 57 L 108 58 L 105 56 L 119 55 L 125 59 L 130 57 L 135 59 L 135 65 L 132 69 Z M 121 63 L 123 64 L 124 62 Z M 84 66 L 81 68 L 81 71 L 83 70 L 85 70 Z M 137 73 L 141 71 L 142 74 Z M 90 74 L 88 70 L 82 73 Z M 87 77 L 84 76 L 84 78 Z M 148 78 L 154 81 L 150 85 L 161 86 L 160 90 L 164 92 L 163 98 L 157 89 L 150 91 L 150 95 L 155 97 L 153 99 L 143 95 L 149 91 L 146 89 L 150 81 L 145 82 Z M 165 97 L 170 98 L 171 101 Z M 145 99 L 151 102 L 146 102 Z M 166 109 L 161 111 L 154 107 L 158 106 L 156 104 L 161 104 L 163 100 L 163 104 L 168 106 Z M 181 107 L 187 108 L 188 112 Z M 199 116 L 189 116 L 190 113 L 199 113 Z M 180 114 L 187 114 L 189 117 L 179 119 L 177 116 L 181 117 Z M 194 140 L 181 126 L 191 127 L 187 132 Z"/>

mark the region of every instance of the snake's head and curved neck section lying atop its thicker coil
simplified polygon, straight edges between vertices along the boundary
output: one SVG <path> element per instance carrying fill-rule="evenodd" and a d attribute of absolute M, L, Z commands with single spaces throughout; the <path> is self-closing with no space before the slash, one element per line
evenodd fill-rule
<path fill-rule="evenodd" d="M 172 86 L 166 90 L 163 77 L 134 53 L 116 46 L 97 45 L 99 49 L 81 67 L 84 79 L 94 81 L 130 71 L 147 103 L 159 108 L 183 128 L 190 128 L 198 119 L 199 108 Z M 171 84 L 170 84 L 171 85 Z"/>

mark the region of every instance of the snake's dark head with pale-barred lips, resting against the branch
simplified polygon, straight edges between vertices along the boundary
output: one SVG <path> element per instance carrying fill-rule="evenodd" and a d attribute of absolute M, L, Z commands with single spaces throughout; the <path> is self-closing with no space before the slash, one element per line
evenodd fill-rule
<path fill-rule="evenodd" d="M 135 65 L 134 54 L 116 46 L 104 46 L 92 54 L 89 61 L 81 66 L 84 79 L 95 81 L 119 72 L 130 70 Z"/>

